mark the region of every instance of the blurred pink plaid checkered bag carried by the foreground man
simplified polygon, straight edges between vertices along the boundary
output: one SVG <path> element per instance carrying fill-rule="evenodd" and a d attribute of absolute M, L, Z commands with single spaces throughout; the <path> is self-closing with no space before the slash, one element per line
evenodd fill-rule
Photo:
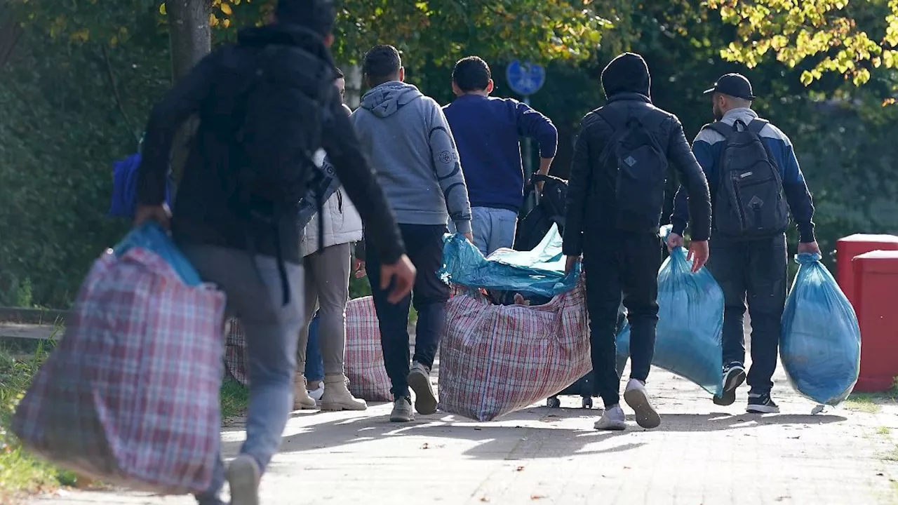
<path fill-rule="evenodd" d="M 225 295 L 142 247 L 93 263 L 13 417 L 32 452 L 106 483 L 206 491 L 219 448 Z"/>

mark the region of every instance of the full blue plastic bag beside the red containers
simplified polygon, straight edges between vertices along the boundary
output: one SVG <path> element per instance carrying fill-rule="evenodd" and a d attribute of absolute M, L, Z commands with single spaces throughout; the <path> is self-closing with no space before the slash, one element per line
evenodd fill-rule
<path fill-rule="evenodd" d="M 836 405 L 858 382 L 858 317 L 819 254 L 798 254 L 796 262 L 798 273 L 783 311 L 779 358 L 799 393 Z"/>

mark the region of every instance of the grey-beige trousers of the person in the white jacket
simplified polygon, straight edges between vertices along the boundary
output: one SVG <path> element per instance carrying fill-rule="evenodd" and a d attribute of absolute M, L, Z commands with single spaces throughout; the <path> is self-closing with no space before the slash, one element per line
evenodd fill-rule
<path fill-rule="evenodd" d="M 304 258 L 305 309 L 296 347 L 296 369 L 305 369 L 309 323 L 318 309 L 318 343 L 325 375 L 342 375 L 346 349 L 346 304 L 349 301 L 349 244 L 325 247 Z"/>

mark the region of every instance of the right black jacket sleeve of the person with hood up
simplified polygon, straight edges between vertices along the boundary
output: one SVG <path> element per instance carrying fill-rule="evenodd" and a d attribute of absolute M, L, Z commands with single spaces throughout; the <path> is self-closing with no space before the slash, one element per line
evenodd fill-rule
<path fill-rule="evenodd" d="M 670 137 L 667 143 L 667 159 L 680 174 L 680 181 L 689 195 L 689 215 L 692 219 L 692 240 L 708 240 L 711 235 L 711 196 L 708 180 L 701 165 L 692 154 L 680 120 L 671 117 Z"/>

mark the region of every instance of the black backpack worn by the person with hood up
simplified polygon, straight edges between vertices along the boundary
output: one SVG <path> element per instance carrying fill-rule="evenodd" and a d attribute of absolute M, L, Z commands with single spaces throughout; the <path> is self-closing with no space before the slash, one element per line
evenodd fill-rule
<path fill-rule="evenodd" d="M 613 164 L 616 171 L 614 227 L 657 232 L 665 205 L 668 163 L 665 150 L 643 124 L 645 116 L 630 116 L 622 125 L 612 124 L 614 135 L 599 160 L 600 166 Z"/>

